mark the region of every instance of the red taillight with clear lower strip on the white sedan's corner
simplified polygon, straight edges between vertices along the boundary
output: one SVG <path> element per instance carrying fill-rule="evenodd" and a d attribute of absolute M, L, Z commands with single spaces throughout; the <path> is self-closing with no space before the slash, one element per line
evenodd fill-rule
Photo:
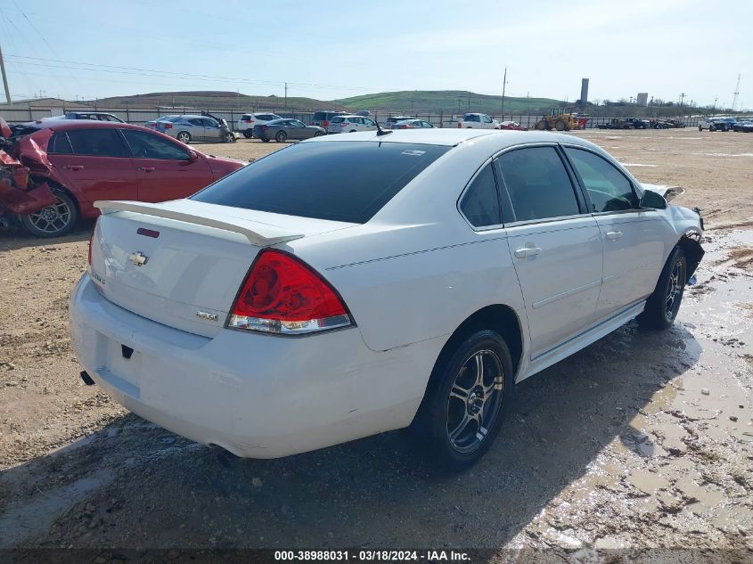
<path fill-rule="evenodd" d="M 279 250 L 257 257 L 228 327 L 295 335 L 350 325 L 335 290 L 298 258 Z"/>

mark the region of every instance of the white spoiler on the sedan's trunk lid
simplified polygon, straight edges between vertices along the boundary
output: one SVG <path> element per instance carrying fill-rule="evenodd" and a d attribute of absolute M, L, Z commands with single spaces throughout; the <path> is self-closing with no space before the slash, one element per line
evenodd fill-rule
<path fill-rule="evenodd" d="M 94 208 L 99 208 L 103 216 L 118 211 L 132 211 L 144 216 L 165 217 L 166 219 L 175 219 L 176 221 L 183 221 L 193 225 L 204 225 L 206 227 L 222 229 L 223 231 L 241 233 L 256 247 L 267 247 L 282 241 L 300 239 L 304 236 L 301 233 L 291 232 L 278 225 L 250 221 L 241 217 L 211 217 L 211 213 L 201 216 L 187 213 L 179 209 L 185 203 L 187 202 L 170 201 L 151 204 L 143 201 L 97 200 L 94 202 Z"/>

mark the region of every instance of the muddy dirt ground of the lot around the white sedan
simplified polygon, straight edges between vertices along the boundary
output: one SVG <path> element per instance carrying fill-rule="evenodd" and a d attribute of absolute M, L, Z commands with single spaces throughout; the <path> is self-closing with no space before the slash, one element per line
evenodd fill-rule
<path fill-rule="evenodd" d="M 699 283 L 670 331 L 628 324 L 521 383 L 500 440 L 456 477 L 432 472 L 397 432 L 228 460 L 128 414 L 83 385 L 70 348 L 67 298 L 91 225 L 56 241 L 0 234 L 0 547 L 91 547 L 100 561 L 118 556 L 110 549 L 172 546 L 751 558 L 753 135 L 578 135 L 646 182 L 682 185 L 677 203 L 703 209 Z M 198 148 L 251 159 L 279 145 Z"/>

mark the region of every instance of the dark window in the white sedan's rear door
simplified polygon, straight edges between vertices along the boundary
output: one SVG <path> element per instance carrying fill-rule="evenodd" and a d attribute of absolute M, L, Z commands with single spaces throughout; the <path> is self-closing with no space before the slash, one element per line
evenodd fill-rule
<path fill-rule="evenodd" d="M 497 159 L 510 196 L 514 218 L 531 221 L 580 213 L 576 195 L 560 155 L 553 147 L 530 147 Z"/>

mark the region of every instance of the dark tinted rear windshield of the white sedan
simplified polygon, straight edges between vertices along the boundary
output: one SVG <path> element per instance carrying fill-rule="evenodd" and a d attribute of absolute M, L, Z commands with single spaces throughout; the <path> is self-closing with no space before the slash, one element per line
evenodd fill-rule
<path fill-rule="evenodd" d="M 364 224 L 450 147 L 299 143 L 241 168 L 192 200 Z"/>

